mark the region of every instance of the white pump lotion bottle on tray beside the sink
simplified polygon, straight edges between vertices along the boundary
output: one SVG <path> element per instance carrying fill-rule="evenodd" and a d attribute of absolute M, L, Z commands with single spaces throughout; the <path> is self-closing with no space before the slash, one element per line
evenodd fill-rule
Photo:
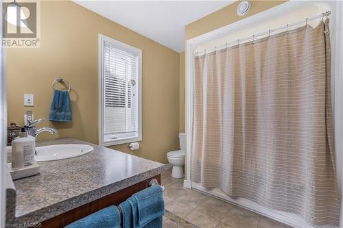
<path fill-rule="evenodd" d="M 27 137 L 27 132 L 22 130 L 19 138 L 12 141 L 12 169 L 30 166 L 34 162 L 35 140 Z"/>

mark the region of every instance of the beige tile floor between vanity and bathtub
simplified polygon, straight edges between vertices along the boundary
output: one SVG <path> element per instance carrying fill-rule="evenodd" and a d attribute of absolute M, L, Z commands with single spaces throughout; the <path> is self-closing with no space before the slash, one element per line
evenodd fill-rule
<path fill-rule="evenodd" d="M 165 209 L 200 228 L 289 228 L 226 201 L 183 188 L 183 179 L 172 178 L 170 171 L 163 173 L 161 182 L 165 186 Z M 174 222 L 165 220 L 163 227 L 173 227 Z M 178 225 L 174 223 L 174 227 Z"/>

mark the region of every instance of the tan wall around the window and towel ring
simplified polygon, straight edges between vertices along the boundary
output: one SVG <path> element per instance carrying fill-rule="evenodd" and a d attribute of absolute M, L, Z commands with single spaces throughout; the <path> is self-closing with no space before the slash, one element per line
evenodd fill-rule
<path fill-rule="evenodd" d="M 97 143 L 98 34 L 143 50 L 143 141 L 130 151 L 158 162 L 178 149 L 179 54 L 71 1 L 41 3 L 40 49 L 8 49 L 8 123 L 23 125 L 23 114 L 48 119 L 51 82 L 64 77 L 71 84 L 72 123 L 45 123 L 58 129 L 54 138 L 73 137 Z M 23 94 L 34 94 L 34 107 L 23 106 Z M 39 138 L 51 138 L 44 133 Z"/>

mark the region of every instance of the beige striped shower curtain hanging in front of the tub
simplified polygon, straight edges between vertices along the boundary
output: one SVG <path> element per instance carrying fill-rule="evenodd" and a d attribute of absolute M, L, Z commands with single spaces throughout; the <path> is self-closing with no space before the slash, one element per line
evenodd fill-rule
<path fill-rule="evenodd" d="M 195 57 L 191 181 L 339 225 L 327 23 Z"/>

